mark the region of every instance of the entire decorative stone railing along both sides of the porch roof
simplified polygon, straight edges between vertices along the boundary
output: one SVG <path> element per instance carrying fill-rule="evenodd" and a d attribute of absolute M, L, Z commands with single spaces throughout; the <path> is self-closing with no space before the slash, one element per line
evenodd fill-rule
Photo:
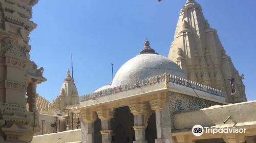
<path fill-rule="evenodd" d="M 154 77 L 151 77 L 151 78 L 139 80 L 136 84 L 129 83 L 129 84 L 120 85 L 120 86 L 117 86 L 117 87 L 111 87 L 111 88 L 104 89 L 104 90 L 101 90 L 101 91 L 93 92 L 93 93 L 90 93 L 90 94 L 86 94 L 86 95 L 80 96 L 79 101 L 80 102 L 88 101 L 88 100 L 92 100 L 92 99 L 95 99 L 95 98 L 108 96 L 109 94 L 114 94 L 114 93 L 123 92 L 123 91 L 126 91 L 126 90 L 131 90 L 131 89 L 135 89 L 135 88 L 139 88 L 139 87 L 143 87 L 143 86 L 163 82 L 165 75 L 166 74 L 161 74 L 161 75 L 154 76 Z M 183 79 L 183 78 L 179 78 L 177 76 L 173 76 L 173 75 L 169 75 L 169 74 L 167 74 L 167 75 L 168 75 L 169 82 L 180 84 L 180 85 L 183 85 L 183 86 L 187 86 L 187 87 L 190 87 L 190 88 L 194 88 L 194 89 L 197 89 L 197 90 L 208 92 L 208 93 L 211 93 L 211 94 L 215 94 L 216 96 L 224 97 L 224 93 L 221 90 L 214 89 L 214 88 L 211 88 L 209 86 L 199 84 L 197 82 L 193 82 L 193 81 L 189 81 L 189 80 L 186 80 L 186 79 Z M 190 83 L 191 86 L 188 83 Z"/>

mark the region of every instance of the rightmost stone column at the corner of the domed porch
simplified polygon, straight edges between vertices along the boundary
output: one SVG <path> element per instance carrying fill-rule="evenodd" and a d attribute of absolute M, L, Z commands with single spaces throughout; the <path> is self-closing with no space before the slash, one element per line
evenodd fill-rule
<path fill-rule="evenodd" d="M 164 96 L 162 96 L 164 97 Z M 155 110 L 156 113 L 156 127 L 157 127 L 157 139 L 155 139 L 156 143 L 164 143 L 166 142 L 163 137 L 163 118 L 162 118 L 162 110 L 165 105 L 166 98 L 162 98 L 161 95 L 155 96 L 154 100 L 150 101 L 151 108 Z"/>

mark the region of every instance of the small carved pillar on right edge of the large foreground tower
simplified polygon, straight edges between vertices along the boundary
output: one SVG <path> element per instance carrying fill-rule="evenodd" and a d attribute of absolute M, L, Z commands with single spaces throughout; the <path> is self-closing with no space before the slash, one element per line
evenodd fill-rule
<path fill-rule="evenodd" d="M 35 112 L 36 111 L 36 79 L 32 79 L 32 82 L 28 84 L 27 93 L 28 93 L 28 104 L 29 104 L 29 111 Z"/>

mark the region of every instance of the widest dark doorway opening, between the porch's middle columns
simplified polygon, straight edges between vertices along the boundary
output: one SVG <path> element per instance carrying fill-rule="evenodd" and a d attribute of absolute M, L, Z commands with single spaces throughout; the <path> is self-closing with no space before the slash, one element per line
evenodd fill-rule
<path fill-rule="evenodd" d="M 132 143 L 135 140 L 133 126 L 134 119 L 130 108 L 127 106 L 116 108 L 111 120 L 112 142 Z"/>

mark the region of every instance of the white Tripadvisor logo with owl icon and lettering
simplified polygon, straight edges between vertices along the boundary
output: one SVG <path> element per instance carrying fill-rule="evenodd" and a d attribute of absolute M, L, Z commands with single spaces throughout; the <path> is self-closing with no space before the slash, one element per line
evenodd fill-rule
<path fill-rule="evenodd" d="M 192 128 L 192 133 L 195 136 L 201 136 L 203 133 L 245 133 L 246 129 L 245 128 L 213 128 L 213 127 L 203 127 L 201 125 L 195 125 Z"/>

